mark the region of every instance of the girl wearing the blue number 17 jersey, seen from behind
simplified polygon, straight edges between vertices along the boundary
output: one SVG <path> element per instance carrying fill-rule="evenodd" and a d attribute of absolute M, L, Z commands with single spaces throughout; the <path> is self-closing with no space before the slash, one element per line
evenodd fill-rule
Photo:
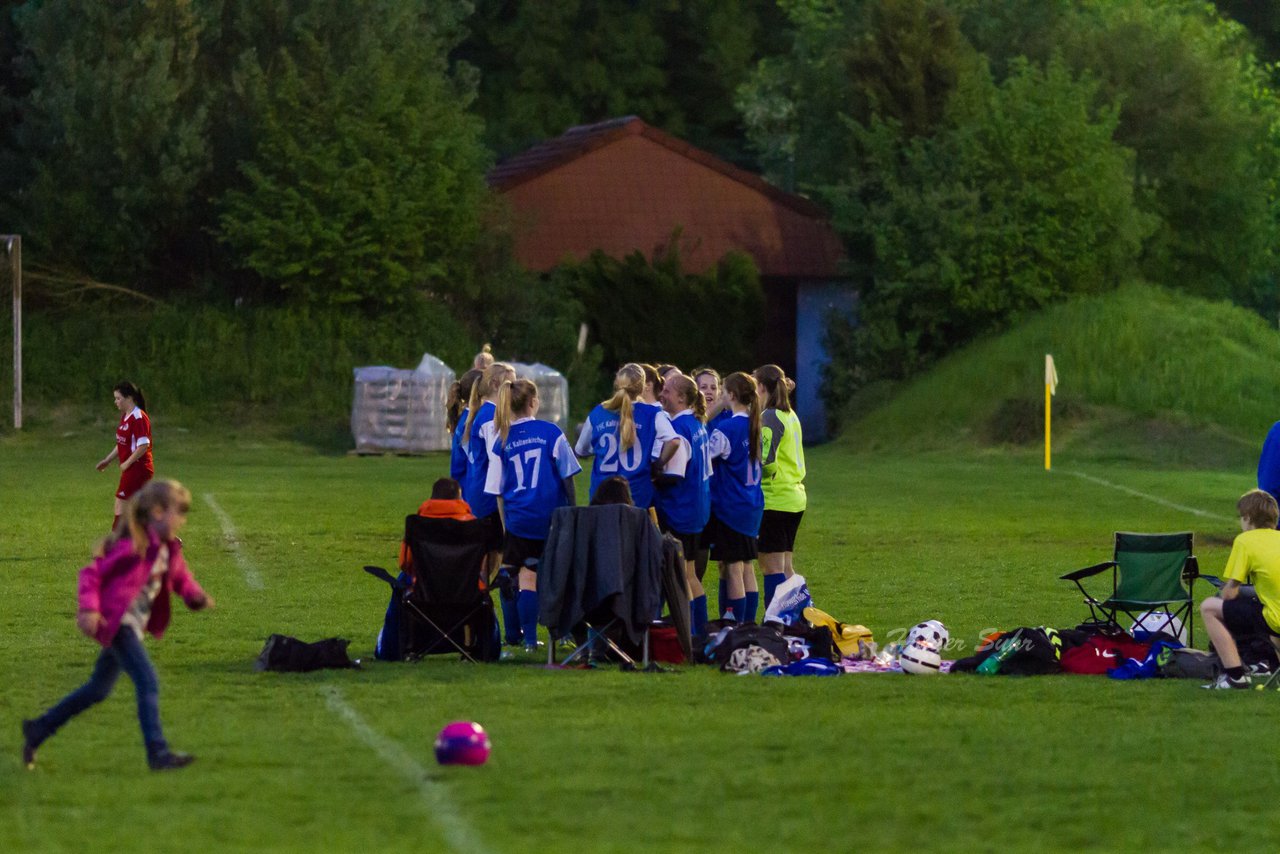
<path fill-rule="evenodd" d="M 485 492 L 502 497 L 507 524 L 503 568 L 518 572 L 516 608 L 525 649 L 538 648 L 538 563 L 557 507 L 573 503 L 573 475 L 582 470 L 561 429 L 535 420 L 538 387 L 506 382 L 498 392 L 495 435 L 489 446 Z"/>

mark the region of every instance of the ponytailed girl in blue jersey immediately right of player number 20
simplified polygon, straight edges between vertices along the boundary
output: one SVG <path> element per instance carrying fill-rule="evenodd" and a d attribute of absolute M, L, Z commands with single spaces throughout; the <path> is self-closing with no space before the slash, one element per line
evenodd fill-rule
<path fill-rule="evenodd" d="M 667 471 L 677 475 L 675 483 L 658 489 L 658 521 L 684 548 L 691 627 L 695 635 L 703 635 L 707 634 L 707 592 L 698 575 L 696 554 L 712 511 L 712 458 L 703 426 L 707 406 L 694 380 L 678 374 L 667 378 L 662 406 L 671 416 L 680 448 L 667 465 Z"/>

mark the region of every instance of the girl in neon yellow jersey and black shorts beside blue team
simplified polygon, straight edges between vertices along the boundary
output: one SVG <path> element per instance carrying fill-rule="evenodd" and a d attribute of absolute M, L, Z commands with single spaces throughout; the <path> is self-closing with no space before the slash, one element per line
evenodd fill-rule
<path fill-rule="evenodd" d="M 763 365 L 754 374 L 764 411 L 760 414 L 764 466 L 764 516 L 760 519 L 760 572 L 764 576 L 764 607 L 773 592 L 795 575 L 792 553 L 796 531 L 808 497 L 804 490 L 804 437 L 800 419 L 791 408 L 791 383 L 777 365 Z"/>

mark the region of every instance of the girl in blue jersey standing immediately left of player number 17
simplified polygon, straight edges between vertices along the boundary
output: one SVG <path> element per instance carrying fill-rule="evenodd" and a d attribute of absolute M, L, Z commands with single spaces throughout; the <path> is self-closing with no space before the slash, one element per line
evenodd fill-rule
<path fill-rule="evenodd" d="M 484 369 L 480 379 L 471 387 L 471 396 L 467 398 L 467 416 L 462 420 L 460 433 L 466 453 L 466 471 L 462 478 L 456 478 L 462 484 L 462 499 L 471 506 L 471 512 L 485 526 L 489 579 L 499 592 L 503 636 L 511 645 L 521 643 L 520 616 L 516 612 L 516 583 L 503 576 L 499 570 L 503 544 L 502 516 L 498 512 L 498 499 L 485 493 L 484 485 L 489 476 L 489 446 L 494 437 L 493 416 L 497 411 L 498 389 L 503 383 L 515 379 L 515 367 L 507 362 L 494 362 Z"/>

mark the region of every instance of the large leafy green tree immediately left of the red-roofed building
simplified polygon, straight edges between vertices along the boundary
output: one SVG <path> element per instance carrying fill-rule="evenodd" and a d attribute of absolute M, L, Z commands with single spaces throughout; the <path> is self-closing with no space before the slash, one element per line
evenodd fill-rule
<path fill-rule="evenodd" d="M 239 27 L 250 49 L 233 100 L 252 152 L 221 196 L 220 238 L 266 286 L 312 303 L 474 289 L 488 154 L 445 63 L 466 4 L 294 5 L 251 19 L 269 35 L 256 46 Z"/>

